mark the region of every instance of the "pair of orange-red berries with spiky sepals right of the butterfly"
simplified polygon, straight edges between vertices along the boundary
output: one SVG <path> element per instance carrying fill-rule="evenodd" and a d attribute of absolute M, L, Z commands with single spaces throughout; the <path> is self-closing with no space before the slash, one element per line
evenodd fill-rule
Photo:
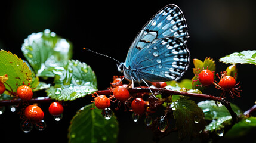
<path fill-rule="evenodd" d="M 225 98 L 226 92 L 229 92 L 230 96 L 232 98 L 234 98 L 234 95 L 236 97 L 240 97 L 240 92 L 242 92 L 242 90 L 240 90 L 240 86 L 235 88 L 235 86 L 239 85 L 240 82 L 236 83 L 236 74 L 235 77 L 232 76 L 227 76 L 227 71 L 223 71 L 221 72 L 221 77 L 218 75 L 218 73 L 216 74 L 218 76 L 218 79 L 220 79 L 219 82 L 217 82 L 216 80 L 214 80 L 214 71 L 208 70 L 207 69 L 196 69 L 196 71 L 199 72 L 199 74 L 196 74 L 195 76 L 198 78 L 197 80 L 193 80 L 193 82 L 196 82 L 199 80 L 199 82 L 201 83 L 201 85 L 199 86 L 210 86 L 210 85 L 215 85 L 217 89 L 220 89 L 221 91 L 223 91 L 220 95 L 220 98 Z"/>

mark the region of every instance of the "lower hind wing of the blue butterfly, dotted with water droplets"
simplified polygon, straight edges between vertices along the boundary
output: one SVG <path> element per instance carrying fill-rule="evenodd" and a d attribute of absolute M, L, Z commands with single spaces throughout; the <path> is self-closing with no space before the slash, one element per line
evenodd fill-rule
<path fill-rule="evenodd" d="M 130 70 L 138 82 L 178 80 L 190 62 L 189 50 L 180 38 L 165 37 L 141 49 L 131 60 Z"/>

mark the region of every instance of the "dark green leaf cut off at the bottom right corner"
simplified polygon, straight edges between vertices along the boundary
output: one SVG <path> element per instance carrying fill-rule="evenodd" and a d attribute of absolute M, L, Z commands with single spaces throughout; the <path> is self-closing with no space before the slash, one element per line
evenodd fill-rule
<path fill-rule="evenodd" d="M 240 120 L 227 132 L 227 138 L 239 138 L 248 134 L 252 128 L 256 127 L 256 117 L 249 117 Z"/>

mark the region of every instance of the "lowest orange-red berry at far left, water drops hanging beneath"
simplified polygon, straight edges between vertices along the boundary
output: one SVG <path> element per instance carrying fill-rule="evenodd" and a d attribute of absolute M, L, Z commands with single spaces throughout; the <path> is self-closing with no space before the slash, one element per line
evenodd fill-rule
<path fill-rule="evenodd" d="M 39 122 L 44 118 L 44 112 L 37 105 L 29 105 L 25 109 L 25 116 L 31 122 Z"/>

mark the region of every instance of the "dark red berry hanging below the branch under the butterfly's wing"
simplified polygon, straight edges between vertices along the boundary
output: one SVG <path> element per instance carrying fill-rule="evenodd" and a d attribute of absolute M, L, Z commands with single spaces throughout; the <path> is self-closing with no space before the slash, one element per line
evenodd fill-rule
<path fill-rule="evenodd" d="M 131 103 L 131 108 L 136 114 L 143 114 L 145 112 L 146 102 L 142 98 L 136 98 Z"/>

